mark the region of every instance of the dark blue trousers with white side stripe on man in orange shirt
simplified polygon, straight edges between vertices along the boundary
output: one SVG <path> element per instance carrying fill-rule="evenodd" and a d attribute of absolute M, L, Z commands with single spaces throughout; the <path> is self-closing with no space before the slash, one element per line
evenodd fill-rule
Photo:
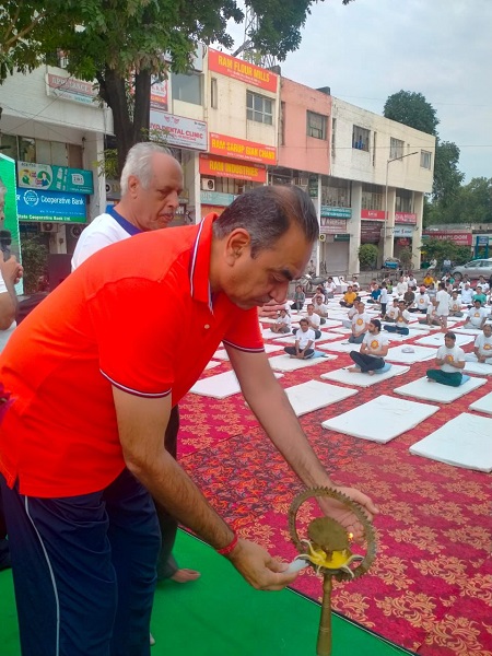
<path fill-rule="evenodd" d="M 149 656 L 161 536 L 128 471 L 105 490 L 39 499 L 0 475 L 23 656 Z"/>

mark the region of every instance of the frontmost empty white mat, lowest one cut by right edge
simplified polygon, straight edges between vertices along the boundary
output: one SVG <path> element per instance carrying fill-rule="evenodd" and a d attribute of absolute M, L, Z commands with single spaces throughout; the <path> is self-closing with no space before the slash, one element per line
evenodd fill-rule
<path fill-rule="evenodd" d="M 492 419 L 462 412 L 417 444 L 410 453 L 447 465 L 492 471 Z"/>

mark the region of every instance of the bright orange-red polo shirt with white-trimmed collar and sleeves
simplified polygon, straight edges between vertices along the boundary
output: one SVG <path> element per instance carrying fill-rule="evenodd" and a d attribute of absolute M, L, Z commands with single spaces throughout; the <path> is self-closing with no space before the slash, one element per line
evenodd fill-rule
<path fill-rule="evenodd" d="M 112 385 L 179 399 L 223 340 L 263 351 L 257 309 L 209 288 L 212 222 L 143 233 L 90 257 L 14 331 L 0 471 L 20 492 L 89 494 L 125 467 Z"/>

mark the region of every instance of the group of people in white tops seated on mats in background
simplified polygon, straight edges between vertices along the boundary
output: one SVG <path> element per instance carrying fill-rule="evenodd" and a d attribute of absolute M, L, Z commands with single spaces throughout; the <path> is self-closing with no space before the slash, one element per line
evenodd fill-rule
<path fill-rule="evenodd" d="M 332 282 L 332 279 L 329 279 Z M 401 276 L 398 283 L 393 285 L 391 281 L 377 283 L 372 281 L 368 289 L 368 305 L 380 306 L 378 317 L 367 313 L 366 304 L 362 301 L 359 284 L 349 284 L 341 301 L 342 307 L 348 309 L 347 319 L 342 325 L 350 328 L 349 343 L 360 344 L 360 350 L 351 351 L 350 358 L 354 366 L 350 372 L 362 372 L 373 375 L 385 366 L 385 356 L 389 348 L 389 337 L 386 332 L 409 333 L 409 325 L 412 321 L 412 313 L 425 315 L 419 318 L 419 323 L 440 326 L 447 330 L 447 317 L 465 317 L 466 327 L 481 329 L 475 343 L 473 353 L 465 354 L 462 349 L 456 347 L 456 336 L 446 331 L 444 345 L 436 352 L 437 368 L 427 371 L 429 380 L 444 385 L 460 385 L 461 371 L 465 362 L 475 362 L 492 365 L 492 326 L 487 324 L 490 311 L 485 304 L 490 303 L 490 288 L 487 282 L 477 285 L 473 290 L 468 281 L 462 285 L 454 288 L 446 286 L 444 281 L 437 284 L 437 291 L 418 285 L 413 276 Z M 395 289 L 396 288 L 396 289 Z M 389 290 L 397 295 L 391 297 Z M 305 306 L 306 295 L 301 285 L 295 290 L 292 304 L 285 304 L 280 309 L 271 330 L 276 333 L 293 333 L 296 336 L 294 345 L 284 348 L 291 358 L 308 359 L 315 355 L 316 340 L 321 337 L 320 327 L 328 318 L 328 298 L 335 296 L 333 285 L 319 285 L 316 289 L 313 301 L 305 309 L 305 315 L 300 320 L 298 328 L 292 328 L 290 311 L 302 312 Z M 449 293 L 450 291 L 450 293 Z M 487 297 L 489 293 L 489 300 Z M 465 307 L 464 307 L 465 306 Z M 386 332 L 385 332 L 386 331 Z"/>

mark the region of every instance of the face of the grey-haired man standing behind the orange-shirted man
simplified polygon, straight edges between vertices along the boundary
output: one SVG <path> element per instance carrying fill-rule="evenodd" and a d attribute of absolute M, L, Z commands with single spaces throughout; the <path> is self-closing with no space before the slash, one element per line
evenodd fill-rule
<path fill-rule="evenodd" d="M 130 176 L 128 180 L 128 197 L 136 225 L 143 231 L 166 227 L 179 207 L 181 191 L 183 171 L 179 163 L 171 155 L 154 153 L 149 188 L 144 189 L 136 176 Z"/>

